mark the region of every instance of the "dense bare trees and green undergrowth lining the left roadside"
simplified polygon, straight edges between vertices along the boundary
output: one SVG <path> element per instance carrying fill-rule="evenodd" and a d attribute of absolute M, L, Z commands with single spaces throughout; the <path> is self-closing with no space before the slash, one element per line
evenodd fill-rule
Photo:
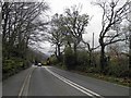
<path fill-rule="evenodd" d="M 2 2 L 2 73 L 3 78 L 31 65 L 28 45 L 39 27 L 36 21 L 48 10 L 45 2 Z M 32 37 L 33 36 L 33 37 Z"/>

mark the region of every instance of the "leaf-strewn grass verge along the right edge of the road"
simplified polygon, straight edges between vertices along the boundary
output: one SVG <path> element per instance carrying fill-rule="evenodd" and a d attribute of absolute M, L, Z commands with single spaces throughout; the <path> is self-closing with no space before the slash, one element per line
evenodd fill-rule
<path fill-rule="evenodd" d="M 58 65 L 55 65 L 55 66 L 58 68 L 58 69 L 61 69 L 61 70 L 67 70 L 64 68 L 64 65 L 59 65 L 58 64 Z M 76 71 L 76 70 L 72 70 L 70 72 L 78 73 L 78 74 L 81 74 L 81 75 L 84 75 L 84 76 L 94 77 L 94 78 L 106 81 L 106 82 L 110 82 L 110 83 L 114 83 L 114 84 L 131 87 L 131 78 L 128 78 L 128 77 L 115 77 L 115 76 L 111 76 L 111 75 L 104 75 L 104 74 L 100 74 L 100 73 L 87 73 L 87 72 L 82 72 L 82 71 Z"/>

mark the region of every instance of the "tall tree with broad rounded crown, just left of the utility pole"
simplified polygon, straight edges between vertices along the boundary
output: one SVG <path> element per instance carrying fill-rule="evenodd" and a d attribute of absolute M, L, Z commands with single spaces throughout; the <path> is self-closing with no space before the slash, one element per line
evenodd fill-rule
<path fill-rule="evenodd" d="M 85 33 L 85 27 L 88 24 L 88 15 L 80 14 L 80 8 L 76 5 L 71 9 L 66 9 L 66 16 L 63 19 L 63 25 L 67 27 L 69 35 L 72 37 L 74 57 L 76 61 L 78 45 L 82 41 L 82 35 Z"/>

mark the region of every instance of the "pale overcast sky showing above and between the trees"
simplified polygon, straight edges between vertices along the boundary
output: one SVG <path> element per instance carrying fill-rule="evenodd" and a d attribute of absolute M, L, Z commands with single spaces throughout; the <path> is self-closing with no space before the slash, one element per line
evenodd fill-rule
<path fill-rule="evenodd" d="M 87 34 L 83 36 L 83 38 L 86 41 L 91 41 L 93 38 L 93 33 L 95 34 L 95 46 L 98 45 L 98 34 L 100 32 L 100 20 L 102 20 L 102 10 L 91 4 L 93 0 L 45 0 L 49 7 L 50 10 L 48 11 L 48 15 L 51 16 L 55 13 L 62 14 L 66 8 L 70 8 L 72 5 L 82 5 L 81 13 L 87 13 L 92 20 L 87 26 Z M 41 49 L 43 52 L 48 53 L 48 51 L 52 50 L 52 47 L 49 44 L 41 44 L 44 46 L 44 49 Z"/>

